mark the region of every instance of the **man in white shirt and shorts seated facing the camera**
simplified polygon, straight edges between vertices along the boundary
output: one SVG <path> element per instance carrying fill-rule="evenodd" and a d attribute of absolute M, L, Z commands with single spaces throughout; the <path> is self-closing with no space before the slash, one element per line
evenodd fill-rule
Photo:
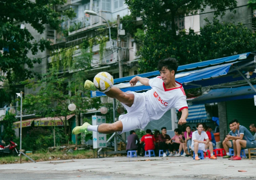
<path fill-rule="evenodd" d="M 210 139 L 207 133 L 203 131 L 203 124 L 197 123 L 196 128 L 197 128 L 197 131 L 192 133 L 192 143 L 191 143 L 191 149 L 195 152 L 195 160 L 200 160 L 197 154 L 198 150 L 207 152 L 208 147 L 211 153 L 211 159 L 217 159 L 213 155 L 213 144 L 212 142 L 210 142 Z M 206 141 L 204 141 L 204 139 L 206 139 Z"/>

